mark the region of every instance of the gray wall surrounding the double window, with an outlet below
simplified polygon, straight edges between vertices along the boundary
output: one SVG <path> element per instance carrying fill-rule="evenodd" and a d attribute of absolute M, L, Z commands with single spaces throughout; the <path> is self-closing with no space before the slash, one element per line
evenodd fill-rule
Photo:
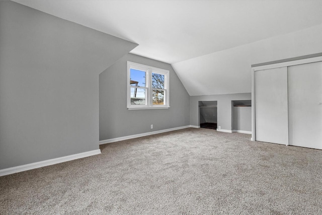
<path fill-rule="evenodd" d="M 170 70 L 169 109 L 126 108 L 127 61 Z M 100 140 L 185 125 L 189 125 L 189 94 L 170 64 L 127 54 L 100 74 Z"/>

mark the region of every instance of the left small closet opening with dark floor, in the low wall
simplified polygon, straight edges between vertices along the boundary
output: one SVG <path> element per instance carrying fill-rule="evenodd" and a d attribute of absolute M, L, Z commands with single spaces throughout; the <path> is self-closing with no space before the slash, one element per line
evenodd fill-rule
<path fill-rule="evenodd" d="M 217 129 L 217 101 L 199 101 L 199 124 L 201 128 Z"/>

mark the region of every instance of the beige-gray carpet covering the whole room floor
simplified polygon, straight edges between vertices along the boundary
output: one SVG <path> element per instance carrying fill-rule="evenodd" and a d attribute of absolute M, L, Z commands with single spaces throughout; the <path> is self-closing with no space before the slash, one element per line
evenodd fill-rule
<path fill-rule="evenodd" d="M 0 214 L 322 214 L 322 151 L 187 128 L 0 177 Z"/>

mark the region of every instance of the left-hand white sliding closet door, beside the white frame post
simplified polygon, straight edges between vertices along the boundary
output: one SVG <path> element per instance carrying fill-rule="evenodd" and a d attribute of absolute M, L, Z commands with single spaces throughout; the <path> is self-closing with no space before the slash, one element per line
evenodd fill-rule
<path fill-rule="evenodd" d="M 256 140 L 288 145 L 287 67 L 255 71 Z"/>

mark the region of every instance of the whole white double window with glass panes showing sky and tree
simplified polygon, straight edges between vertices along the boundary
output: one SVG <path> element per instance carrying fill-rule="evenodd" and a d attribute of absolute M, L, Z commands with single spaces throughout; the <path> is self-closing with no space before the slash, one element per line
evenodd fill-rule
<path fill-rule="evenodd" d="M 169 70 L 127 61 L 127 108 L 169 107 Z"/>

